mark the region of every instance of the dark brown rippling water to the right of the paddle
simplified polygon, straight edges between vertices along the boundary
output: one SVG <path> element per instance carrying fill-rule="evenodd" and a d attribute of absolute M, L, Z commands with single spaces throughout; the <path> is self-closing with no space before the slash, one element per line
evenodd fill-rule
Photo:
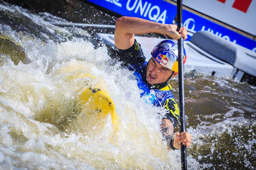
<path fill-rule="evenodd" d="M 193 144 L 188 153 L 211 169 L 253 169 L 256 87 L 230 78 L 189 76 L 185 107 Z"/>

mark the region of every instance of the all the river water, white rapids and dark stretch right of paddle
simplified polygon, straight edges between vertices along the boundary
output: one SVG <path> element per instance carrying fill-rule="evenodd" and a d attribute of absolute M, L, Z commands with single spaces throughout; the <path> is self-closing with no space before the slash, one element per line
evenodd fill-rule
<path fill-rule="evenodd" d="M 92 32 L 46 20 L 65 22 L 0 4 L 0 169 L 180 169 L 180 151 L 161 138 L 165 110 L 140 98 L 132 72 Z M 68 125 L 89 86 L 112 98 L 118 131 L 110 115 Z M 186 71 L 185 95 L 188 169 L 255 169 L 256 87 Z"/>

